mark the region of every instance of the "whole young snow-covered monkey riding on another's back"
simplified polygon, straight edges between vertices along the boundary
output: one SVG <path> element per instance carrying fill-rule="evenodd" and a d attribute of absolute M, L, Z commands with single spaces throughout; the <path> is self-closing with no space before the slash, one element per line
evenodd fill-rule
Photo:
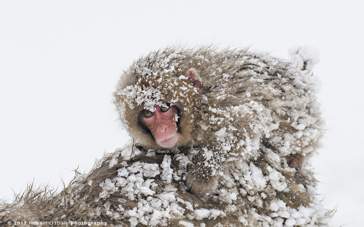
<path fill-rule="evenodd" d="M 301 171 L 321 124 L 308 71 L 314 62 L 303 53 L 288 61 L 247 49 L 169 47 L 135 61 L 114 102 L 138 145 L 187 150 L 193 194 L 213 193 L 237 160 L 259 163 L 266 149 Z"/>

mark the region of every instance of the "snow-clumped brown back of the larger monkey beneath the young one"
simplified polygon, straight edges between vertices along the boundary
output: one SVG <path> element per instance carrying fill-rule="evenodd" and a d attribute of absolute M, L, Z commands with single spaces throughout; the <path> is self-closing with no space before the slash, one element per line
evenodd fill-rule
<path fill-rule="evenodd" d="M 327 226 L 332 211 L 316 197 L 312 175 L 280 161 L 269 149 L 257 161 L 238 161 L 217 193 L 201 198 L 183 185 L 188 151 L 158 153 L 130 143 L 90 173 L 76 174 L 59 194 L 31 185 L 14 203 L 0 203 L 0 226 Z"/>

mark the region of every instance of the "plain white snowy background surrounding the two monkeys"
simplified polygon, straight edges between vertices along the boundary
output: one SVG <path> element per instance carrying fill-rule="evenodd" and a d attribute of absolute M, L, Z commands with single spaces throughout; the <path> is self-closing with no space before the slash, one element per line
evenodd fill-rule
<path fill-rule="evenodd" d="M 126 141 L 111 94 L 134 59 L 170 44 L 251 46 L 288 58 L 320 50 L 327 119 L 312 165 L 337 206 L 332 226 L 362 226 L 362 1 L 0 1 L 0 199 L 27 182 L 62 189 L 74 169 Z"/>

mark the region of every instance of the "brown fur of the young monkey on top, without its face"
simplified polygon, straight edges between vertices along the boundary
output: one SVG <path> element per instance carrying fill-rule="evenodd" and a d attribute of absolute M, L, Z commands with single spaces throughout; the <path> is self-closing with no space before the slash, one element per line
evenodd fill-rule
<path fill-rule="evenodd" d="M 181 76 L 187 77 L 191 70 L 198 74 L 202 90 L 187 89 L 184 84 L 194 84 L 193 80 L 178 80 Z M 154 105 L 171 103 L 177 106 L 181 111 L 178 129 L 182 133 L 182 139 L 176 146 L 193 147 L 198 151 L 189 168 L 187 185 L 191 192 L 206 195 L 212 193 L 217 186 L 216 170 L 224 169 L 226 163 L 234 165 L 234 161 L 238 159 L 248 160 L 259 156 L 258 147 L 253 151 L 246 147 L 250 139 L 264 141 L 262 145 L 281 156 L 291 155 L 288 165 L 301 169 L 303 157 L 314 149 L 320 133 L 308 142 L 302 142 L 297 137 L 296 147 L 286 147 L 283 141 L 300 130 L 305 133 L 319 127 L 321 119 L 319 112 L 311 112 L 309 109 L 314 102 L 309 100 L 314 97 L 310 95 L 312 86 L 309 83 L 296 85 L 294 74 L 300 73 L 300 70 L 309 74 L 304 68 L 293 68 L 289 62 L 264 54 L 250 53 L 246 49 L 218 52 L 214 48 L 205 47 L 193 50 L 172 47 L 150 53 L 135 62 L 122 75 L 114 94 L 115 104 L 120 119 L 126 120 L 132 137 L 138 139 L 140 145 L 151 149 L 165 148 L 156 143 L 148 129 L 141 127 L 138 122 L 141 111 L 151 108 L 151 97 L 157 97 L 153 100 Z M 138 101 L 138 96 L 128 97 L 130 86 L 151 91 L 152 94 L 146 101 Z M 159 93 L 163 96 L 158 96 Z M 181 93 L 189 100 L 179 96 Z M 303 104 L 294 104 L 292 99 L 307 100 Z M 256 107 L 250 105 L 251 102 L 256 106 L 260 105 L 263 110 L 258 112 Z M 237 109 L 239 106 L 248 109 Z M 312 123 L 298 130 L 292 125 L 293 121 L 289 121 L 296 115 L 292 112 L 299 113 L 300 118 L 307 118 Z M 262 117 L 257 117 L 260 113 L 263 113 Z M 211 122 L 212 118 L 217 120 Z M 270 118 L 269 122 L 260 123 L 266 118 Z M 299 120 L 295 121 L 298 124 Z M 231 126 L 235 129 L 230 129 Z M 277 129 L 271 128 L 268 132 L 262 129 L 254 131 L 254 126 Z M 225 135 L 223 138 L 230 147 L 229 151 L 224 150 L 216 141 L 216 133 L 221 129 L 226 129 L 226 133 L 234 136 L 231 138 L 231 135 Z M 245 144 L 240 145 L 241 141 L 245 141 Z M 281 147 L 286 151 L 280 152 Z M 212 158 L 206 160 L 206 155 L 209 155 L 206 153 L 210 152 Z M 245 154 L 241 155 L 242 152 Z M 231 161 L 225 161 L 229 159 Z"/>

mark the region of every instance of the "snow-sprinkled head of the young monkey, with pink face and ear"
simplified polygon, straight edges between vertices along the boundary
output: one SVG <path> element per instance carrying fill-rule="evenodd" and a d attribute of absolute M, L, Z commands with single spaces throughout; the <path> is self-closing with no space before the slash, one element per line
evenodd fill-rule
<path fill-rule="evenodd" d="M 190 146 L 196 97 L 202 91 L 196 70 L 173 64 L 133 66 L 114 93 L 120 119 L 132 136 L 151 149 Z"/>

